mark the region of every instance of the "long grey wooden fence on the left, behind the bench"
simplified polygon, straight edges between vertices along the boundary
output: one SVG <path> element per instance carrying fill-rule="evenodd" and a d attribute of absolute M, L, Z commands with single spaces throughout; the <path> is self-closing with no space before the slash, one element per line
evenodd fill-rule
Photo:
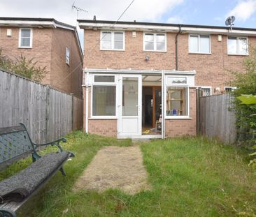
<path fill-rule="evenodd" d="M 34 142 L 56 140 L 83 126 L 83 100 L 2 70 L 0 102 L 0 128 L 24 123 Z"/>

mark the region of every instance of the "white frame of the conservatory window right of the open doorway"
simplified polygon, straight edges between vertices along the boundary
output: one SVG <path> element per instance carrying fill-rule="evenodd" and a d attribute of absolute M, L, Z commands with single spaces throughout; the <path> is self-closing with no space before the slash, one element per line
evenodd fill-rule
<path fill-rule="evenodd" d="M 167 77 L 178 77 L 178 76 L 170 76 L 170 75 L 166 75 L 164 78 L 167 81 Z M 165 89 L 164 89 L 164 118 L 165 119 L 191 119 L 190 118 L 190 77 L 187 76 L 182 76 L 182 77 L 186 77 L 187 79 L 187 84 L 165 84 Z M 169 87 L 186 87 L 187 88 L 187 115 L 177 115 L 177 116 L 173 116 L 173 115 L 167 115 L 166 113 L 166 91 Z"/>

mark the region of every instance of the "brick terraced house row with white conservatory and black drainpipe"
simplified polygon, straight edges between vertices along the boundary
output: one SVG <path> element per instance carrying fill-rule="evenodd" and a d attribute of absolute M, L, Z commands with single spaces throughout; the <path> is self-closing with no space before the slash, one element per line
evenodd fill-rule
<path fill-rule="evenodd" d="M 196 135 L 196 89 L 230 91 L 228 70 L 256 29 L 78 20 L 84 29 L 84 128 L 118 138 Z"/>

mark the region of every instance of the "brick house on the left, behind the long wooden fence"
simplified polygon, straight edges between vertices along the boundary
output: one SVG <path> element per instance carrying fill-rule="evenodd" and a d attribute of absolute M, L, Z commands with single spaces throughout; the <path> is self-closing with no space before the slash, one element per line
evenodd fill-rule
<path fill-rule="evenodd" d="M 0 17 L 0 49 L 45 67 L 42 83 L 82 98 L 83 50 L 76 27 L 51 18 Z"/>

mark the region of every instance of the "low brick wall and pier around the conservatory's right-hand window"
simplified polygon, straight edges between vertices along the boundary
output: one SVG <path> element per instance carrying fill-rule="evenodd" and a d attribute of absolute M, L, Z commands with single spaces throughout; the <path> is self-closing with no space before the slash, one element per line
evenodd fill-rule
<path fill-rule="evenodd" d="M 197 135 L 196 89 L 190 88 L 190 117 L 191 119 L 166 119 L 166 137 Z"/>

